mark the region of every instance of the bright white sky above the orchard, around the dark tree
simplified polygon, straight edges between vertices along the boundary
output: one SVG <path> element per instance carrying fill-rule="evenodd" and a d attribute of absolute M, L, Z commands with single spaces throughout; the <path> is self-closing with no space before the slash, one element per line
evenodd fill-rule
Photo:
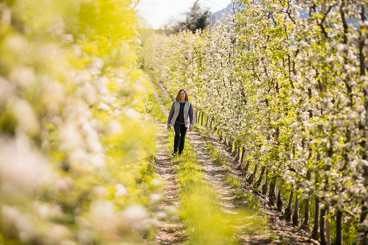
<path fill-rule="evenodd" d="M 163 28 L 169 19 L 182 19 L 182 14 L 189 12 L 196 0 L 140 0 L 139 15 L 151 25 L 153 29 Z M 210 3 L 210 2 L 212 3 Z M 226 8 L 231 0 L 199 0 L 202 8 L 208 8 L 215 13 Z M 215 4 L 221 6 L 216 6 Z"/>

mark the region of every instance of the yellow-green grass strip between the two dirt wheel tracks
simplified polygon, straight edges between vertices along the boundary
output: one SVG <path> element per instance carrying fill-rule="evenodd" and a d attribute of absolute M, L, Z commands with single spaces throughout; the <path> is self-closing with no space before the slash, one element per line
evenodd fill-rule
<path fill-rule="evenodd" d="M 168 146 L 172 149 L 173 130 L 170 134 Z M 240 234 L 264 230 L 265 224 L 245 208 L 239 208 L 237 213 L 223 212 L 215 190 L 205 180 L 204 165 L 188 139 L 183 155 L 171 157 L 171 162 L 180 184 L 181 217 L 190 235 L 188 244 L 239 244 Z"/>

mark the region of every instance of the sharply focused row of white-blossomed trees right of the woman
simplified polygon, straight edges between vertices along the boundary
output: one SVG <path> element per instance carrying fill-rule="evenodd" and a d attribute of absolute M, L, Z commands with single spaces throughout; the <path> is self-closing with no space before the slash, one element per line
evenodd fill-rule
<path fill-rule="evenodd" d="M 197 115 L 207 114 L 234 142 L 243 173 L 255 164 L 248 182 L 257 171 L 256 188 L 266 178 L 271 205 L 281 210 L 281 193 L 291 191 L 286 219 L 294 203 L 293 223 L 300 223 L 302 199 L 302 228 L 322 244 L 332 216 L 336 244 L 343 244 L 344 221 L 358 224 L 356 242 L 366 244 L 366 2 L 241 2 L 246 7 L 223 15 L 212 33 L 151 37 L 145 67 L 171 94 L 189 91 Z"/>

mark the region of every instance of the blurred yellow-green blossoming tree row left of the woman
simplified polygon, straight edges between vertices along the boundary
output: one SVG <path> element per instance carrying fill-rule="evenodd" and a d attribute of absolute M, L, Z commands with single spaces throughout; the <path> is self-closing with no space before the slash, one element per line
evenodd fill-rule
<path fill-rule="evenodd" d="M 1 244 L 140 244 L 158 222 L 135 4 L 1 1 Z"/>

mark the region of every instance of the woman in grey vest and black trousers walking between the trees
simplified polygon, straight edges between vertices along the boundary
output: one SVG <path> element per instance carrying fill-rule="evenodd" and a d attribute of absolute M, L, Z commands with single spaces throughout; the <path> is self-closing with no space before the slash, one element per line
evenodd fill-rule
<path fill-rule="evenodd" d="M 189 127 L 189 131 L 192 131 L 194 125 L 192 103 L 188 101 L 188 93 L 185 89 L 178 91 L 176 100 L 171 105 L 169 119 L 167 120 L 167 130 L 171 130 L 170 124 L 174 126 L 175 130 L 174 152 L 171 155 L 175 156 L 178 153 L 181 156 L 187 129 Z"/>

